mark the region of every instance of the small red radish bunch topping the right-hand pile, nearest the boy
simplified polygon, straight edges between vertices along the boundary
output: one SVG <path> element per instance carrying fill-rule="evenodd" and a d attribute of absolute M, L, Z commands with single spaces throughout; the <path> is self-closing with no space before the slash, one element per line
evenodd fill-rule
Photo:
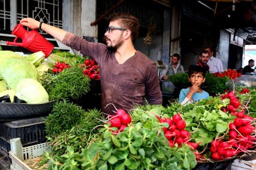
<path fill-rule="evenodd" d="M 221 98 L 223 100 L 225 98 L 230 99 L 230 103 L 229 103 L 228 107 L 222 107 L 221 110 L 223 112 L 229 112 L 232 115 L 236 115 L 236 110 L 238 109 L 238 107 L 240 107 L 241 103 L 238 100 L 238 98 L 236 98 L 235 93 L 233 91 L 229 91 L 228 93 L 221 95 Z"/>

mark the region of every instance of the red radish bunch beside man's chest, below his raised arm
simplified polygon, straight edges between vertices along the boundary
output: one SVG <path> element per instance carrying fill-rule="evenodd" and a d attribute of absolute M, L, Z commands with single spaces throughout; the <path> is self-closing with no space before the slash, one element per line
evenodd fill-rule
<path fill-rule="evenodd" d="M 94 59 L 90 60 L 90 58 L 87 58 L 85 64 L 80 65 L 80 67 L 84 67 L 83 74 L 85 74 L 86 77 L 96 80 L 100 79 L 99 65 Z"/>

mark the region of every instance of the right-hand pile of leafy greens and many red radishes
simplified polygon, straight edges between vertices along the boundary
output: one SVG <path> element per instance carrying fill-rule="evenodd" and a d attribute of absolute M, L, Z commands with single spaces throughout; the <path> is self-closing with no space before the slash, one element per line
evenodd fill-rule
<path fill-rule="evenodd" d="M 245 93 L 246 91 L 246 93 Z M 255 89 L 229 91 L 189 105 L 171 104 L 165 113 L 180 113 L 197 143 L 198 162 L 219 161 L 255 152 L 255 112 L 250 98 Z"/>

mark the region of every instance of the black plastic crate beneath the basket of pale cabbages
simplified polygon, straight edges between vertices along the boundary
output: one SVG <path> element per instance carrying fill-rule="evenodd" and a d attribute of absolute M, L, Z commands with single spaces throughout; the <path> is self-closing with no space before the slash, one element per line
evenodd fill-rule
<path fill-rule="evenodd" d="M 11 150 L 11 138 L 20 138 L 22 145 L 29 146 L 47 141 L 45 133 L 44 117 L 20 119 L 13 122 L 0 124 L 1 150 Z"/>

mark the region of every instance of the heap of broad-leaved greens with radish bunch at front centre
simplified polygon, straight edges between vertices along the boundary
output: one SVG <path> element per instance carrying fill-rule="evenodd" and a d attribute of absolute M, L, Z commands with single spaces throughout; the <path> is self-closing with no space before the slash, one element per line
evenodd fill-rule
<path fill-rule="evenodd" d="M 161 114 L 159 107 L 164 109 L 161 105 L 137 107 L 130 115 L 116 110 L 116 116 L 96 126 L 97 131 L 87 131 L 83 140 L 73 140 L 69 135 L 80 122 L 75 128 L 70 126 L 66 133 L 56 134 L 50 140 L 53 148 L 45 154 L 42 164 L 50 160 L 49 169 L 193 169 L 195 155 L 188 145 L 169 146 L 162 131 L 164 124 L 155 116 Z M 57 123 L 56 118 L 51 120 Z M 126 124 L 123 130 L 122 124 Z M 47 126 L 52 126 L 52 122 Z M 66 150 L 63 138 L 68 143 Z M 61 152 L 57 143 L 61 143 Z"/>

